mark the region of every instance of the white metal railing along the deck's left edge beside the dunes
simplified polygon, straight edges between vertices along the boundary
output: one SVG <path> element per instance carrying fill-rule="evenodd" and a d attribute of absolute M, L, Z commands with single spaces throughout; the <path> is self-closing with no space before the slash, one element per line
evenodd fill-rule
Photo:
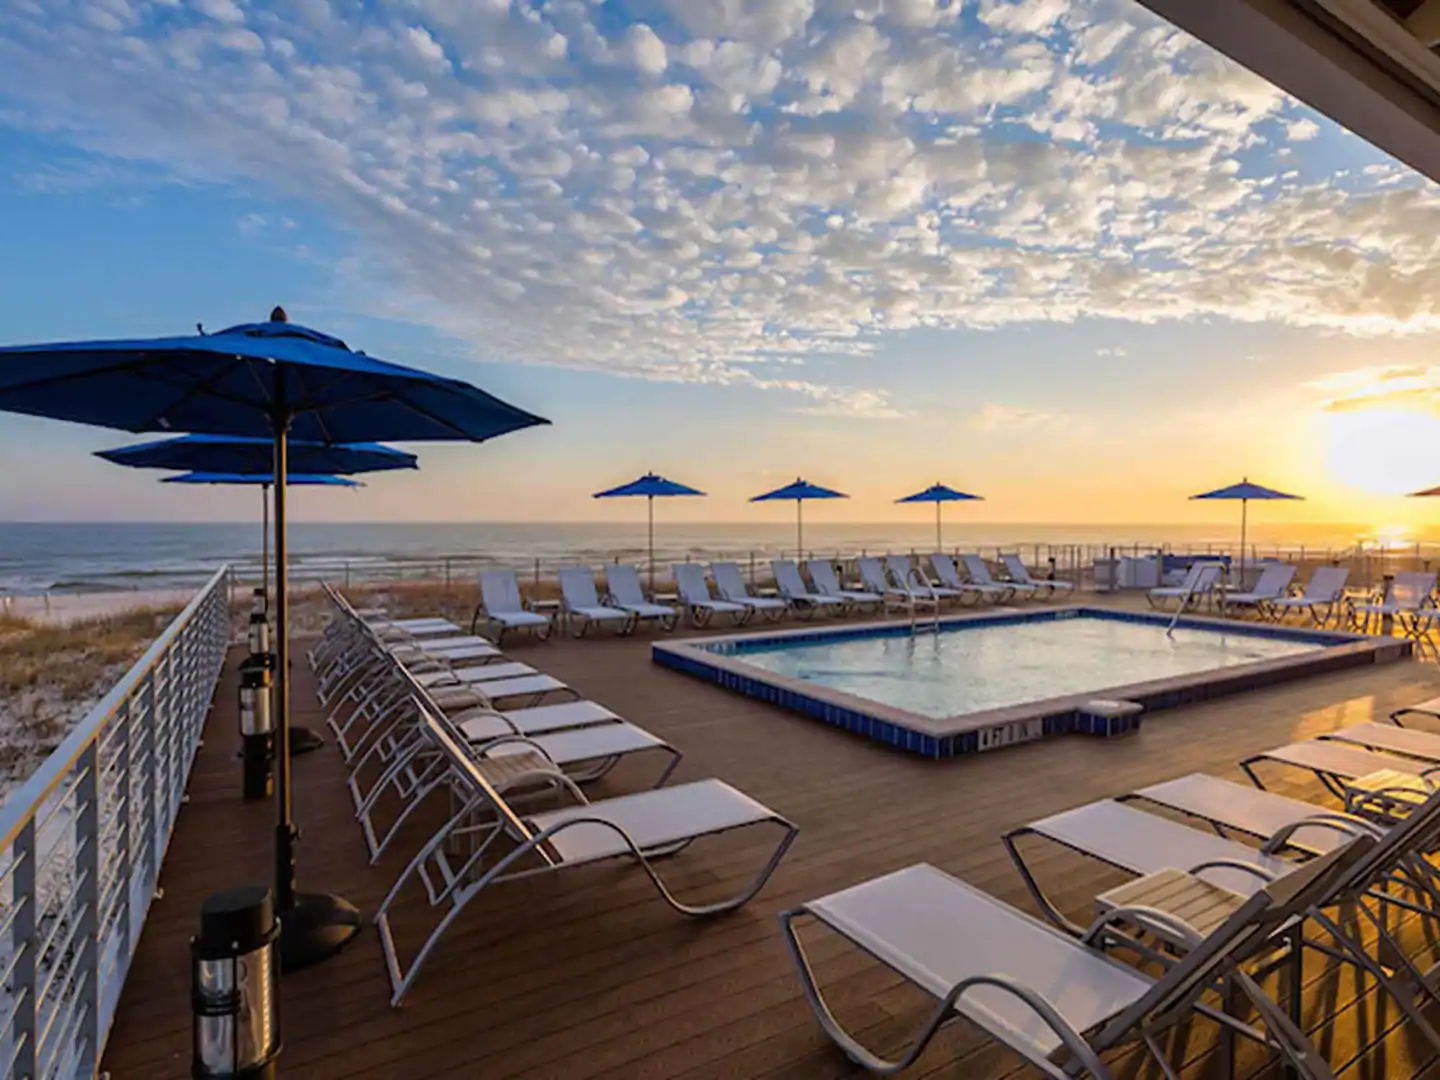
<path fill-rule="evenodd" d="M 99 1070 L 229 639 L 223 567 L 0 806 L 0 1079 Z"/>

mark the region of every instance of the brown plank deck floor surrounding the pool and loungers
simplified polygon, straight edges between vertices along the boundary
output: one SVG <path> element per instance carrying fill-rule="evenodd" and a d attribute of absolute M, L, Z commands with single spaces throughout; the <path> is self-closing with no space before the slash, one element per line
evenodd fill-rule
<path fill-rule="evenodd" d="M 930 762 L 661 670 L 644 635 L 513 651 L 683 749 L 674 782 L 723 778 L 795 821 L 799 840 L 756 901 L 710 923 L 675 916 L 642 874 L 618 864 L 508 886 L 451 929 L 400 1009 L 387 1004 L 379 940 L 367 927 L 343 955 L 284 981 L 284 1076 L 861 1076 L 801 996 L 779 910 L 922 860 L 1034 910 L 999 844 L 1002 831 L 1187 772 L 1238 779 L 1234 763 L 1247 753 L 1381 716 L 1440 684 L 1433 667 L 1403 662 L 1156 714 L 1122 740 L 1068 737 Z M 318 726 L 302 661 L 294 691 L 297 723 Z M 230 671 L 166 860 L 164 897 L 151 910 L 109 1038 L 107 1068 L 117 1080 L 189 1076 L 187 940 L 200 900 L 271 876 L 271 806 L 239 799 L 233 698 Z M 645 768 L 622 766 L 596 795 L 647 785 L 654 773 Z M 338 891 L 372 913 L 403 857 L 367 865 L 334 747 L 297 760 L 295 780 L 301 886 Z M 1318 788 L 1295 791 L 1320 799 Z M 697 845 L 662 873 L 681 896 L 736 890 L 768 840 Z M 1120 880 L 1073 855 L 1047 854 L 1037 867 L 1077 914 Z M 818 942 L 815 958 L 841 1020 L 871 1045 L 896 1050 L 922 1022 L 924 1001 L 874 962 L 834 940 Z M 1395 1028 L 1382 1001 L 1358 996 L 1352 975 L 1326 973 L 1319 962 L 1310 973 L 1305 1015 L 1344 1077 L 1440 1076 L 1428 1045 Z M 1211 1074 L 1211 1028 L 1197 1025 L 1188 1037 L 1187 1077 Z M 955 1025 L 907 1076 L 985 1080 L 1017 1070 L 1028 1076 L 1007 1051 Z M 1155 1076 L 1135 1058 L 1119 1061 L 1116 1074 Z"/>

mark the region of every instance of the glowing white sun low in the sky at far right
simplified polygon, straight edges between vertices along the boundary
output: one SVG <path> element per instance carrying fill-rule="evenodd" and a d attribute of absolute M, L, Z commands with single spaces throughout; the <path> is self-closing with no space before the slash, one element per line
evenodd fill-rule
<path fill-rule="evenodd" d="M 1440 418 L 1411 409 L 1325 415 L 1326 471 L 1352 488 L 1404 495 L 1440 484 Z"/>

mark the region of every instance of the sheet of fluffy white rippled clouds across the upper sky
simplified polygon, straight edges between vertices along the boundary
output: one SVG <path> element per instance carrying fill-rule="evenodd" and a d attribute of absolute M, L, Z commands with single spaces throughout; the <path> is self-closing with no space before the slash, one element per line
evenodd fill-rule
<path fill-rule="evenodd" d="M 1436 192 L 1282 173 L 1315 122 L 1122 0 L 9 0 L 0 95 L 312 200 L 487 354 L 824 415 L 900 415 L 796 377 L 890 330 L 1440 325 Z"/>

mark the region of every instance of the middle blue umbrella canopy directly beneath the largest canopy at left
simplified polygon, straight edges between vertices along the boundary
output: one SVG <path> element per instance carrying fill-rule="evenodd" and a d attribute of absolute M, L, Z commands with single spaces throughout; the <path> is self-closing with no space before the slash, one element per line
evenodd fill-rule
<path fill-rule="evenodd" d="M 134 446 L 96 451 L 96 458 L 132 468 L 184 469 L 228 475 L 269 474 L 275 482 L 275 441 L 232 435 L 180 435 L 174 439 L 140 442 Z M 305 439 L 291 439 L 285 464 L 289 482 L 297 474 L 353 474 L 418 468 L 416 456 L 379 442 L 337 444 L 334 446 Z M 243 482 L 243 481 L 230 481 Z M 256 481 L 261 482 L 261 481 Z"/>

